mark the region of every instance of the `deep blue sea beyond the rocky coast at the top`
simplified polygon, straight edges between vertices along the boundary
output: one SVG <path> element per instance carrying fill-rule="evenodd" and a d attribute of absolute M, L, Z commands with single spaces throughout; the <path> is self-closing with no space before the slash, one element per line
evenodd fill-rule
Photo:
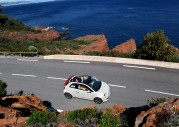
<path fill-rule="evenodd" d="M 179 47 L 178 0 L 36 0 L 17 4 L 5 6 L 3 13 L 29 26 L 68 32 L 72 39 L 104 34 L 113 48 L 130 38 L 139 45 L 144 35 L 162 29 L 170 43 Z"/>

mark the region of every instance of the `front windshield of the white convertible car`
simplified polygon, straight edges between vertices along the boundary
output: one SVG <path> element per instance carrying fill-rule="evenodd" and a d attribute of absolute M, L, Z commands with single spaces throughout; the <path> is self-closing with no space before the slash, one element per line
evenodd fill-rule
<path fill-rule="evenodd" d="M 98 91 L 101 88 L 101 81 L 95 77 L 91 77 L 90 83 L 88 84 L 94 91 Z"/>

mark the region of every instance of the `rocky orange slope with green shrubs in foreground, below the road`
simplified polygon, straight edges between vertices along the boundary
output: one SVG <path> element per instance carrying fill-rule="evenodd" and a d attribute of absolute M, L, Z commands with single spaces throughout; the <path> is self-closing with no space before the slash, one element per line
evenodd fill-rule
<path fill-rule="evenodd" d="M 50 102 L 29 95 L 7 95 L 0 98 L 0 126 L 25 127 L 178 127 L 179 98 L 157 98 L 148 105 L 126 108 L 122 104 L 98 109 L 96 106 L 80 110 L 48 111 Z M 48 115 L 47 115 L 48 114 Z M 53 114 L 53 117 L 51 115 Z M 49 116 L 50 115 L 50 116 Z M 32 118 L 35 119 L 32 119 Z M 54 118 L 54 119 L 53 119 Z M 44 120 L 51 119 L 44 123 Z M 115 119 L 117 121 L 115 121 Z M 28 123 L 27 121 L 31 121 Z M 41 124 L 40 124 L 41 123 Z M 42 124 L 44 123 L 44 124 Z"/>

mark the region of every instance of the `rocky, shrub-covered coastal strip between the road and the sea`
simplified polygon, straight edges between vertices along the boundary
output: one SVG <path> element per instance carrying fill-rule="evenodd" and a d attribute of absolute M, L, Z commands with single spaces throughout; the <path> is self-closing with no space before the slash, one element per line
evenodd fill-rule
<path fill-rule="evenodd" d="M 5 14 L 0 14 L 0 52 L 23 52 L 20 53 L 23 56 L 34 56 L 32 52 L 36 52 L 38 55 L 78 54 L 179 61 L 179 49 L 169 44 L 162 30 L 145 35 L 138 48 L 135 40 L 129 39 L 109 49 L 108 40 L 103 34 L 70 39 L 67 33 L 50 27 L 29 27 Z"/>

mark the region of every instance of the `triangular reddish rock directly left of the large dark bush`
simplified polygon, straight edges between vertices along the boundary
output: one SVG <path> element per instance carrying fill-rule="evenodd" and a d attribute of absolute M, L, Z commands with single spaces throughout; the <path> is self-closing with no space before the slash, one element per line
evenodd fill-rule
<path fill-rule="evenodd" d="M 117 45 L 112 49 L 112 51 L 117 51 L 120 53 L 133 53 L 136 51 L 136 42 L 134 39 L 130 39 L 120 45 Z"/>

